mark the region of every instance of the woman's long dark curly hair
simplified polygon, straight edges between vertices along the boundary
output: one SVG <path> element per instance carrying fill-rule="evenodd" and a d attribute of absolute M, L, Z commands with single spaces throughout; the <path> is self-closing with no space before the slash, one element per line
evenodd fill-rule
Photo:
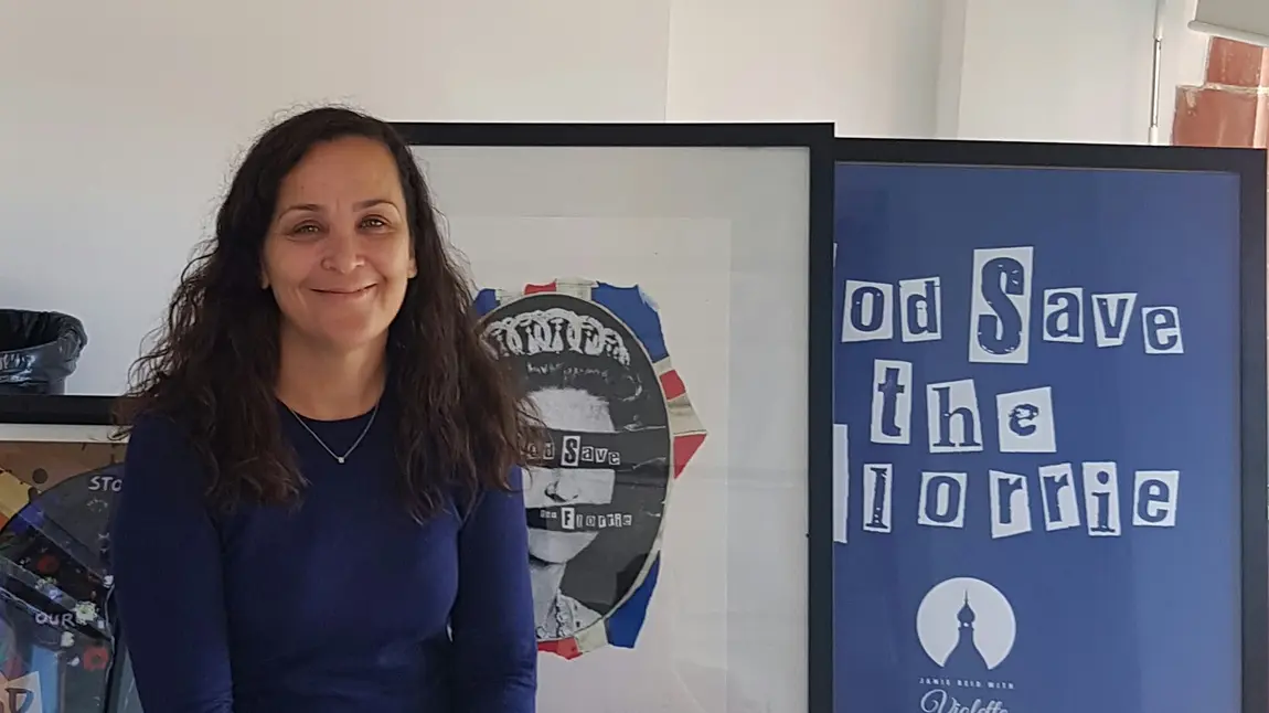
<path fill-rule="evenodd" d="M 537 433 L 510 372 L 482 340 L 471 284 L 445 246 L 410 148 L 388 124 L 344 108 L 303 112 L 250 148 L 189 263 L 154 346 L 132 367 L 119 420 L 156 415 L 187 431 L 208 469 L 209 505 L 294 502 L 305 481 L 282 436 L 274 386 L 279 311 L 260 287 L 261 249 L 283 179 L 316 145 L 343 137 L 392 154 L 419 274 L 388 327 L 401 496 L 418 520 L 456 490 L 506 488 Z M 126 429 L 124 429 L 126 433 Z"/>

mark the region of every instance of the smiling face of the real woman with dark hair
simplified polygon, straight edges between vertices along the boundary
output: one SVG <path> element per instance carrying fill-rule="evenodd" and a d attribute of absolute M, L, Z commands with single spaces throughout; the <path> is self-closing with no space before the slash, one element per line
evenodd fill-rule
<path fill-rule="evenodd" d="M 313 146 L 282 181 L 261 261 L 284 332 L 335 349 L 385 339 L 418 273 L 387 147 L 362 137 Z"/>

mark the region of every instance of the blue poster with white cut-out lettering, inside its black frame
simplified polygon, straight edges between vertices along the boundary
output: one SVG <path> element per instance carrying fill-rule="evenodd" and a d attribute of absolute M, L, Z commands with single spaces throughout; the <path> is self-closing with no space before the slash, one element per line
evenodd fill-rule
<path fill-rule="evenodd" d="M 1237 713 L 1237 176 L 835 190 L 836 710 Z"/>

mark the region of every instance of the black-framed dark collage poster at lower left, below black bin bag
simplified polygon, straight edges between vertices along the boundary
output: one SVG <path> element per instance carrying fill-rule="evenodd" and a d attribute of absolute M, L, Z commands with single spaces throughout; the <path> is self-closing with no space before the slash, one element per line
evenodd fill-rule
<path fill-rule="evenodd" d="M 0 710 L 107 710 L 123 656 L 108 523 L 124 444 L 113 400 L 0 397 Z"/>

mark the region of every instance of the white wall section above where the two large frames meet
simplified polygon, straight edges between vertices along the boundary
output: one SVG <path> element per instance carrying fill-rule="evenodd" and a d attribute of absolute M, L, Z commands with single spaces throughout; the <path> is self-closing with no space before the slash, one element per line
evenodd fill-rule
<path fill-rule="evenodd" d="M 943 3 L 674 0 L 667 118 L 931 136 Z"/>

